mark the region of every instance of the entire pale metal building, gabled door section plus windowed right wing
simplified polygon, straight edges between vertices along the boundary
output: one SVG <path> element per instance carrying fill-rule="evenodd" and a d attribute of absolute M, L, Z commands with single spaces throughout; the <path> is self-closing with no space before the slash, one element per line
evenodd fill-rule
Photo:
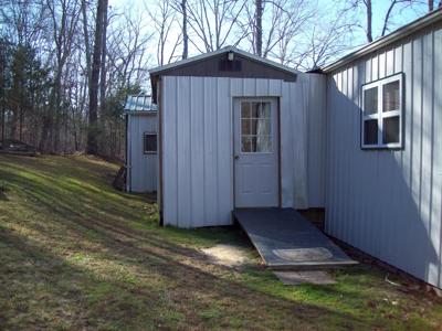
<path fill-rule="evenodd" d="M 441 54 L 439 10 L 322 74 L 234 47 L 152 70 L 161 222 L 323 207 L 329 235 L 442 287 Z"/>

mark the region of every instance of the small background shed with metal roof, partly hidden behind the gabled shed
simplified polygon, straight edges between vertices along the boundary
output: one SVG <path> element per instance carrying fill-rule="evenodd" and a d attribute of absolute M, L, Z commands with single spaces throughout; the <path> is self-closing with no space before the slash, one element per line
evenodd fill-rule
<path fill-rule="evenodd" d="M 157 107 L 149 95 L 129 95 L 126 115 L 126 191 L 155 192 L 158 182 Z"/>

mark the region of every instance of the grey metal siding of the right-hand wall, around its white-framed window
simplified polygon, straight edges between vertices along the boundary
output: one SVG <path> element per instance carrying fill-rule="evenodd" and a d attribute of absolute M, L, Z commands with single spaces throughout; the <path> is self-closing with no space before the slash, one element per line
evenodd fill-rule
<path fill-rule="evenodd" d="M 330 75 L 326 232 L 442 287 L 442 30 Z M 404 73 L 404 149 L 360 149 L 361 85 Z"/>

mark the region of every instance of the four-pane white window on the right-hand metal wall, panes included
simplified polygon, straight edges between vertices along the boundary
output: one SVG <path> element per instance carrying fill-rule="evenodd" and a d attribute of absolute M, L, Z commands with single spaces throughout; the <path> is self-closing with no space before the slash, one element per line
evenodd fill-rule
<path fill-rule="evenodd" d="M 402 74 L 362 86 L 361 147 L 402 148 Z"/>

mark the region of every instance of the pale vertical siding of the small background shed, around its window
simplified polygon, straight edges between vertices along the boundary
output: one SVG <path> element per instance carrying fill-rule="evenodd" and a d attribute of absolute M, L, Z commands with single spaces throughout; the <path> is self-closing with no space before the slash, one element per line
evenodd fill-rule
<path fill-rule="evenodd" d="M 158 156 L 144 153 L 144 132 L 157 132 L 157 116 L 129 115 L 128 120 L 128 189 L 131 192 L 157 191 Z"/>

